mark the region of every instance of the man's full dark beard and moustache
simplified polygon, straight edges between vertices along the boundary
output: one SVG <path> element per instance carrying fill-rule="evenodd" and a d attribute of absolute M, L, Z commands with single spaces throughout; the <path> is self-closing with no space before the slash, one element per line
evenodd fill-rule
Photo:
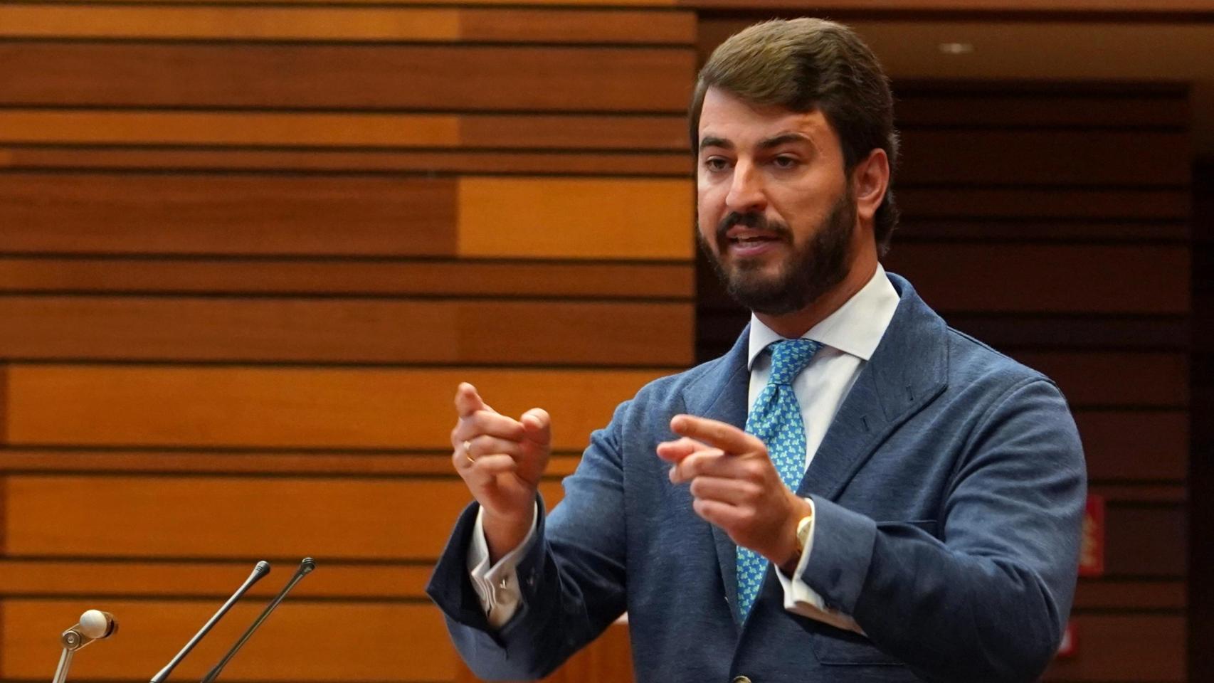
<path fill-rule="evenodd" d="M 775 275 L 762 272 L 760 260 L 739 260 L 730 266 L 720 254 L 728 249 L 726 232 L 733 226 L 771 230 L 792 249 Z M 856 206 L 851 193 L 845 192 L 830 207 L 830 214 L 813 238 L 801 247 L 793 241 L 792 230 L 783 223 L 768 222 L 761 214 L 731 212 L 716 227 L 717 251 L 704 244 L 713 269 L 734 301 L 755 313 L 785 315 L 801 311 L 830 291 L 847 277 L 851 262 L 851 235 L 856 224 Z"/>

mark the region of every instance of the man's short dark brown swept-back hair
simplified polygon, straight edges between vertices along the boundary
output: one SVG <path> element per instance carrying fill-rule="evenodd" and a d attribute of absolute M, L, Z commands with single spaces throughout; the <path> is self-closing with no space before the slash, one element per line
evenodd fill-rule
<path fill-rule="evenodd" d="M 894 96 L 877 56 L 850 28 L 824 19 L 775 19 L 730 36 L 699 72 L 688 119 L 692 152 L 699 148 L 699 114 L 709 87 L 753 104 L 792 112 L 818 109 L 839 136 L 844 171 L 884 149 L 890 173 L 898 160 Z M 878 252 L 889 250 L 898 211 L 891 188 L 873 220 Z"/>

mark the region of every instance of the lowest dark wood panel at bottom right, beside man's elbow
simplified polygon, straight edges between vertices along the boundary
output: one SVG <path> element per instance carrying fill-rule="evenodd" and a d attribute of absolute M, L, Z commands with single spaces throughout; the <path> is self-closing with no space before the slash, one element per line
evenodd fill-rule
<path fill-rule="evenodd" d="M 1185 681 L 1185 617 L 1174 615 L 1078 615 L 1079 650 L 1059 659 L 1045 681 L 1093 683 Z"/>

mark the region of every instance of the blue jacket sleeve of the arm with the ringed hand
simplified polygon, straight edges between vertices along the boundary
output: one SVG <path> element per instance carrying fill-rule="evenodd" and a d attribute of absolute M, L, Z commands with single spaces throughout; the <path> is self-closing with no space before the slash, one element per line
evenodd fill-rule
<path fill-rule="evenodd" d="M 543 678 L 595 639 L 625 607 L 624 482 L 618 423 L 591 436 L 565 500 L 545 517 L 517 567 L 522 604 L 500 631 L 489 628 L 467 574 L 476 503 L 460 516 L 426 592 L 443 610 L 452 641 L 487 679 Z"/>

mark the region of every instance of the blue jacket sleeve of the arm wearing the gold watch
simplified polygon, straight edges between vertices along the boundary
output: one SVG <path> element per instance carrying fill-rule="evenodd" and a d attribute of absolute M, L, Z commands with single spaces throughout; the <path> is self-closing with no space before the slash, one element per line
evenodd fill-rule
<path fill-rule="evenodd" d="M 1071 610 L 1085 488 L 1065 399 L 1025 380 L 977 420 L 940 539 L 815 497 L 802 579 L 927 681 L 1037 681 Z"/>

